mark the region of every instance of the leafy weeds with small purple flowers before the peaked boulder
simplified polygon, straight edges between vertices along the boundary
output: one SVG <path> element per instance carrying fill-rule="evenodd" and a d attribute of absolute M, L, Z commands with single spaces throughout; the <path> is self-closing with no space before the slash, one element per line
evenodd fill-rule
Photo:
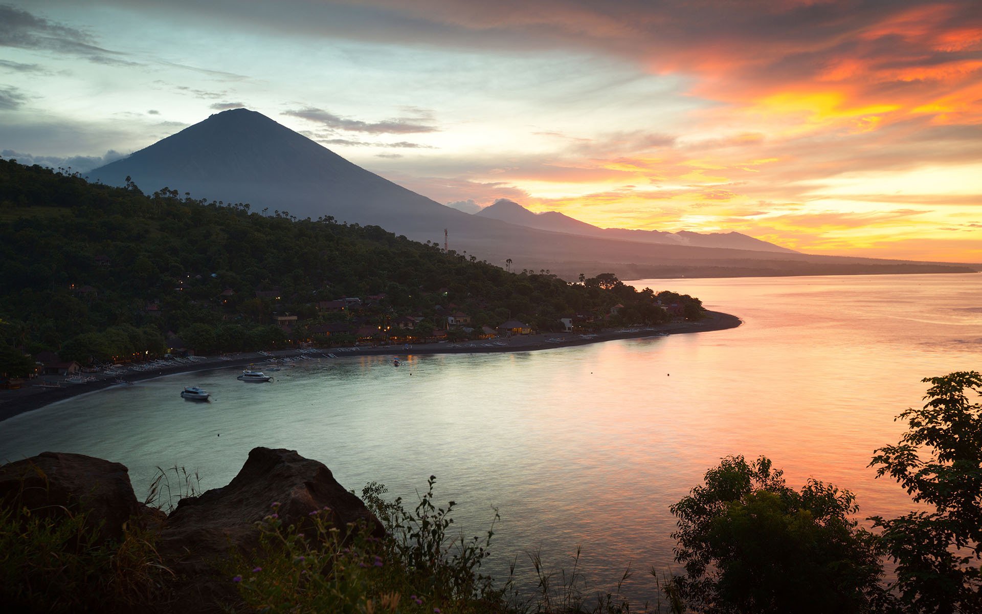
<path fill-rule="evenodd" d="M 261 554 L 234 561 L 232 580 L 246 605 L 263 612 L 506 611 L 504 593 L 478 573 L 493 530 L 483 539 L 449 535 L 455 504 L 434 504 L 434 481 L 413 512 L 401 499 L 382 499 L 381 484 L 365 486 L 366 505 L 386 527 L 382 539 L 363 526 L 333 527 L 325 510 L 312 513 L 311 529 L 301 533 L 283 526 L 273 504 L 259 526 Z"/>

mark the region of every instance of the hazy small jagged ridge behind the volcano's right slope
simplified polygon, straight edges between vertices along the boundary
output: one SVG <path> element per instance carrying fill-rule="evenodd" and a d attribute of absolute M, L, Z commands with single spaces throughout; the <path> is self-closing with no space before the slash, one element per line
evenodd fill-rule
<path fill-rule="evenodd" d="M 660 230 L 630 230 L 627 228 L 600 228 L 581 222 L 560 213 L 545 211 L 533 213 L 521 206 L 515 200 L 499 198 L 494 204 L 484 207 L 474 213 L 482 217 L 501 220 L 510 224 L 549 230 L 559 233 L 571 233 L 588 237 L 603 237 L 621 241 L 636 241 L 639 243 L 656 243 L 660 245 L 693 246 L 699 248 L 729 248 L 733 250 L 778 251 L 785 253 L 800 253 L 799 251 L 782 248 L 760 239 L 754 239 L 737 232 L 729 233 L 695 233 L 682 230 L 678 233 Z"/>

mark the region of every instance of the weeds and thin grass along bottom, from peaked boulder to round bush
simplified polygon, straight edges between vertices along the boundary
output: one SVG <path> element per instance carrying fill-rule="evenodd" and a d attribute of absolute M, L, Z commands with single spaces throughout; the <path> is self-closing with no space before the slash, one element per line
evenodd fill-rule
<path fill-rule="evenodd" d="M 260 547 L 237 555 L 228 568 L 249 610 L 257 612 L 339 612 L 375 614 L 628 614 L 631 611 L 682 612 L 677 596 L 663 607 L 634 608 L 621 592 L 631 577 L 629 565 L 612 591 L 590 595 L 579 572 L 577 548 L 572 571 L 548 570 L 540 552 L 529 553 L 537 586 L 520 594 L 515 564 L 496 582 L 481 573 L 490 556 L 494 525 L 483 535 L 466 537 L 451 530 L 456 503 L 438 505 L 435 477 L 418 504 L 407 510 L 401 498 L 383 498 L 385 486 L 371 482 L 362 500 L 382 522 L 386 537 L 375 538 L 363 526 L 334 527 L 330 514 L 311 514 L 311 529 L 284 526 L 278 504 L 259 523 Z M 656 580 L 657 573 L 652 571 Z M 671 586 L 668 579 L 658 586 Z M 595 600 L 594 600 L 595 597 Z"/>

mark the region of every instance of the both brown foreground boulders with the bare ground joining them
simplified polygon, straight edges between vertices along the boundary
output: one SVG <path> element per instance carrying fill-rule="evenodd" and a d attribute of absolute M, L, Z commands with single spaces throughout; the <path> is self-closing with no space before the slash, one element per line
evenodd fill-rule
<path fill-rule="evenodd" d="M 259 544 L 256 523 L 271 514 L 303 530 L 310 513 L 330 510 L 335 527 L 363 523 L 377 536 L 381 523 L 322 463 L 292 450 L 253 448 L 246 465 L 227 486 L 184 499 L 165 516 L 136 501 L 126 467 L 81 454 L 45 452 L 0 467 L 0 504 L 26 506 L 32 513 L 86 514 L 100 538 L 121 537 L 138 522 L 157 534 L 157 551 L 175 572 L 173 599 L 166 611 L 220 612 L 236 603 L 225 568 L 231 548 L 244 552 Z"/>

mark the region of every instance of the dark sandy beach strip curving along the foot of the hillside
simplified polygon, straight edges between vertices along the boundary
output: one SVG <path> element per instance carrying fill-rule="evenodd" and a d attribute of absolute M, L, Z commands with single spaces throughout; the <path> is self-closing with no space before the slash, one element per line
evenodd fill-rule
<path fill-rule="evenodd" d="M 645 337 L 659 337 L 664 335 L 678 335 L 686 333 L 708 332 L 713 330 L 726 330 L 736 328 L 742 324 L 736 315 L 723 313 L 721 311 L 706 311 L 706 317 L 697 322 L 673 322 L 661 326 L 651 326 L 646 328 L 625 328 L 617 330 L 604 330 L 590 335 L 579 333 L 541 333 L 536 335 L 522 335 L 516 337 L 505 337 L 486 341 L 466 341 L 462 343 L 427 343 L 413 344 L 410 349 L 404 349 L 401 345 L 379 346 L 379 347 L 354 347 L 354 348 L 325 348 L 313 351 L 300 352 L 299 350 L 277 350 L 268 352 L 265 355 L 258 352 L 244 352 L 223 358 L 209 357 L 196 363 L 185 363 L 174 366 L 167 366 L 153 371 L 136 371 L 124 375 L 128 382 L 145 381 L 165 375 L 176 375 L 192 371 L 203 371 L 216 368 L 231 368 L 248 366 L 249 364 L 264 363 L 271 358 L 295 358 L 300 356 L 316 356 L 317 358 L 334 355 L 335 358 L 347 358 L 355 356 L 405 356 L 405 355 L 432 355 L 432 354 L 490 354 L 495 352 L 534 352 L 537 350 L 551 350 L 555 348 L 569 348 L 573 346 L 583 346 L 604 341 L 614 341 L 617 339 L 642 339 Z M 500 345 L 499 345 L 500 344 Z M 52 403 L 71 399 L 83 394 L 97 392 L 109 388 L 115 384 L 115 378 L 109 375 L 101 375 L 98 381 L 84 384 L 64 384 L 60 388 L 44 388 L 32 384 L 19 390 L 0 390 L 0 421 L 20 416 L 32 410 L 40 409 Z M 64 377 L 59 379 L 64 380 Z"/>

